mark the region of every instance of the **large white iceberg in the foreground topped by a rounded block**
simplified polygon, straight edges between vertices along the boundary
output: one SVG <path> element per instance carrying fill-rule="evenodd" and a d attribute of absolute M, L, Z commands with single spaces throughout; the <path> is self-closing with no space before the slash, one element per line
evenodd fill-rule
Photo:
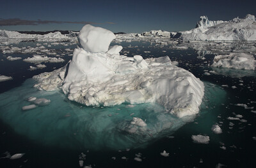
<path fill-rule="evenodd" d="M 120 55 L 122 46 L 109 48 L 113 39 L 111 31 L 84 25 L 72 60 L 61 69 L 34 76 L 38 80 L 35 87 L 47 91 L 61 88 L 70 101 L 86 106 L 152 102 L 179 118 L 198 113 L 204 96 L 202 81 L 173 65 L 168 56 L 143 59 Z"/>

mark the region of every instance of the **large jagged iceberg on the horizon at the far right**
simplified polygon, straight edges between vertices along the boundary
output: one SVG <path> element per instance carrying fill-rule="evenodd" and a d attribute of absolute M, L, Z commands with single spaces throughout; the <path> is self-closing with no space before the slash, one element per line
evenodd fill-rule
<path fill-rule="evenodd" d="M 234 18 L 228 22 L 222 20 L 210 21 L 207 17 L 200 17 L 195 29 L 182 31 L 172 38 L 185 40 L 256 40 L 255 16 L 246 15 L 245 18 Z"/>

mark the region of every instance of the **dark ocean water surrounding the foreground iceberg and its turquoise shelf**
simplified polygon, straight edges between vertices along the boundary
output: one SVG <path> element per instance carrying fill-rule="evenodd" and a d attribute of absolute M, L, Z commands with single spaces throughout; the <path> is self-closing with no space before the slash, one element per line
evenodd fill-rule
<path fill-rule="evenodd" d="M 43 43 L 39 44 L 44 45 Z M 256 114 L 253 113 L 256 110 L 255 71 L 212 69 L 209 64 L 211 64 L 214 55 L 205 55 L 205 59 L 200 59 L 196 51 L 191 48 L 176 50 L 170 45 L 156 45 L 156 43 L 143 41 L 122 42 L 119 44 L 124 47 L 121 54 L 126 54 L 128 57 L 138 54 L 144 58 L 168 55 L 172 61 L 179 62 L 179 67 L 187 69 L 204 81 L 205 86 L 207 86 L 205 87 L 204 103 L 194 121 L 186 123 L 175 132 L 153 139 L 139 148 L 131 146 L 129 150 L 126 148 L 114 150 L 104 147 L 96 149 L 92 146 L 83 146 L 83 144 L 76 143 L 74 141 L 76 135 L 67 137 L 66 133 L 69 129 L 60 131 L 52 129 L 51 127 L 54 124 L 48 125 L 48 132 L 38 132 L 39 130 L 36 128 L 40 124 L 36 122 L 42 123 L 49 120 L 46 116 L 44 118 L 35 116 L 35 122 L 31 122 L 35 125 L 30 125 L 31 128 L 28 129 L 30 124 L 26 122 L 28 118 L 24 118 L 25 121 L 22 121 L 21 116 L 24 117 L 24 115 L 19 115 L 19 111 L 17 111 L 17 115 L 15 115 L 15 111 L 10 113 L 2 111 L 6 107 L 4 104 L 17 106 L 17 102 L 12 101 L 15 93 L 17 93 L 16 97 L 19 97 L 19 94 L 22 97 L 22 94 L 24 94 L 22 89 L 28 89 L 29 87 L 33 92 L 34 81 L 29 80 L 29 78 L 45 71 L 53 71 L 63 67 L 68 60 L 72 59 L 68 55 L 72 52 L 67 52 L 65 48 L 72 50 L 76 48 L 76 45 L 51 45 L 51 47 L 48 45 L 44 46 L 52 49 L 52 52 L 65 53 L 61 57 L 65 59 L 65 62 L 45 63 L 47 66 L 45 69 L 36 69 L 35 71 L 28 70 L 29 66 L 34 66 L 32 63 L 22 60 L 6 60 L 6 56 L 9 55 L 22 57 L 23 59 L 32 57 L 35 53 L 14 52 L 4 54 L 0 50 L 0 74 L 13 77 L 13 80 L 0 82 L 0 157 L 5 157 L 4 152 L 6 151 L 10 152 L 11 155 L 26 153 L 17 160 L 0 158 L 0 167 L 79 167 L 79 155 L 81 153 L 86 155 L 84 165 L 91 165 L 92 167 L 216 167 L 217 165 L 255 167 L 256 141 L 253 139 L 253 137 L 256 137 Z M 13 44 L 13 46 L 19 48 L 24 46 L 36 47 L 36 43 L 22 42 L 17 45 Z M 53 56 L 48 55 L 48 57 Z M 205 74 L 205 72 L 212 70 L 216 73 Z M 65 99 L 64 95 L 59 94 L 59 96 L 63 96 L 63 99 Z M 5 102 L 6 100 L 8 102 Z M 55 100 L 58 100 L 58 98 L 56 97 Z M 70 104 L 74 109 L 81 107 L 81 104 L 72 102 Z M 246 104 L 248 108 L 237 106 L 237 104 Z M 252 107 L 255 108 L 250 109 Z M 13 107 L 13 109 L 15 108 Z M 93 110 L 97 111 L 97 109 Z M 58 112 L 58 110 L 56 111 Z M 56 113 L 56 111 L 51 111 L 51 113 Z M 9 117 L 10 115 L 12 117 Z M 52 122 L 54 122 L 55 115 L 52 115 Z M 242 115 L 243 118 L 241 120 L 227 119 L 228 117 L 236 117 L 236 115 Z M 15 123 L 16 121 L 20 122 Z M 56 120 L 56 122 L 60 121 Z M 223 131 L 222 134 L 212 132 L 211 127 L 216 123 L 220 125 Z M 52 137 L 56 136 L 58 139 L 51 139 L 50 141 L 46 137 L 51 135 L 50 131 L 52 131 Z M 198 134 L 209 136 L 209 144 L 193 143 L 191 136 Z M 65 145 L 65 142 L 73 142 L 74 144 Z M 221 146 L 225 146 L 226 150 L 221 149 Z M 170 156 L 161 156 L 160 153 L 163 150 L 170 153 Z M 138 153 L 141 153 L 142 162 L 134 160 L 135 154 Z M 114 160 L 112 157 L 116 159 Z M 122 157 L 126 159 L 122 159 Z"/>

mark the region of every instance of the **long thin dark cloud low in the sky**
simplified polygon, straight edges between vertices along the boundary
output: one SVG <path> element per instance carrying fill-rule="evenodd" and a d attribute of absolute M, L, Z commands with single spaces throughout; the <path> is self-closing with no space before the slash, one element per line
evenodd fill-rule
<path fill-rule="evenodd" d="M 97 22 L 68 22 L 56 20 L 22 20 L 20 18 L 0 18 L 0 26 L 3 25 L 40 25 L 40 24 L 101 24 Z M 106 24 L 114 24 L 113 22 L 106 22 Z"/>

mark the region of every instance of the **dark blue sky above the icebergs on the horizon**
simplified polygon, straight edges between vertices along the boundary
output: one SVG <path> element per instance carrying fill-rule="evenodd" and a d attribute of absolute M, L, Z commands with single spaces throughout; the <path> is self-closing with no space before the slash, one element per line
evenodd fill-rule
<path fill-rule="evenodd" d="M 256 15 L 256 1 L 237 0 L 1 0 L 0 29 L 79 31 L 92 24 L 113 32 L 186 31 L 200 16 L 231 20 Z"/>

